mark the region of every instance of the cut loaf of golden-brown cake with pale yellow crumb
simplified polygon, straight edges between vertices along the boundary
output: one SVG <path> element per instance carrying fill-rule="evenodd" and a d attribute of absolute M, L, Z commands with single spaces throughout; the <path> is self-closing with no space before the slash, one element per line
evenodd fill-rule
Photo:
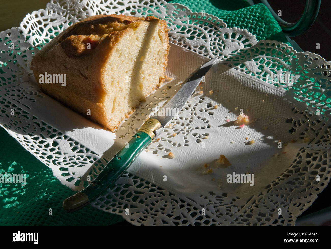
<path fill-rule="evenodd" d="M 46 44 L 31 70 L 43 92 L 114 131 L 164 81 L 168 41 L 156 17 L 92 16 Z"/>

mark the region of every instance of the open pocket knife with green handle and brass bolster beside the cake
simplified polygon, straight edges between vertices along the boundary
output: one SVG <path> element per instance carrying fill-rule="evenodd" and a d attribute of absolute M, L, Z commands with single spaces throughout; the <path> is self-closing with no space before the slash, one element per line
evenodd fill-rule
<path fill-rule="evenodd" d="M 91 201 L 98 198 L 104 190 L 114 184 L 129 168 L 140 152 L 157 138 L 163 131 L 164 127 L 166 127 L 174 116 L 183 109 L 187 100 L 194 93 L 195 88 L 199 85 L 209 69 L 216 63 L 217 59 L 218 58 L 215 57 L 200 66 L 188 77 L 186 83 L 178 90 L 178 92 L 161 107 L 165 108 L 165 110 L 175 110 L 171 112 L 171 115 L 152 117 L 146 120 L 132 136 L 128 144 L 126 144 L 114 156 L 114 158 L 88 186 L 65 199 L 62 205 L 65 211 L 71 213 L 85 207 Z M 168 112 L 164 113 L 167 114 Z"/>

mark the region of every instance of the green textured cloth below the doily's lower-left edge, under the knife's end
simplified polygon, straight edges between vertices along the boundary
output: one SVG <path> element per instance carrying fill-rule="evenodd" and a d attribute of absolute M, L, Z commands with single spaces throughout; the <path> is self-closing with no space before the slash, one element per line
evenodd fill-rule
<path fill-rule="evenodd" d="M 74 192 L 3 128 L 0 128 L 0 144 L 0 173 L 27 176 L 25 186 L 0 183 L 0 225 L 110 225 L 124 220 L 91 206 L 66 213 L 62 201 Z"/>

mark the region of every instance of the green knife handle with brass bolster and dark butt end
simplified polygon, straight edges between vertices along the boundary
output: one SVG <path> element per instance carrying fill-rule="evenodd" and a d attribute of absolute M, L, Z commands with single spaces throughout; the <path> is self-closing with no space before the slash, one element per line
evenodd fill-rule
<path fill-rule="evenodd" d="M 74 212 L 100 196 L 124 174 L 140 152 L 150 144 L 155 138 L 153 131 L 160 126 L 156 119 L 147 120 L 86 188 L 63 201 L 63 208 L 67 212 Z"/>

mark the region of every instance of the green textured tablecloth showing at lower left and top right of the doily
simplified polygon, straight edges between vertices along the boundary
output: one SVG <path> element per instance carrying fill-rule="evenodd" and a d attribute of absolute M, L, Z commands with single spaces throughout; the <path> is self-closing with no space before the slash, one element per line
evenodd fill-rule
<path fill-rule="evenodd" d="M 193 12 L 213 14 L 228 27 L 246 28 L 258 40 L 287 42 L 281 28 L 263 4 L 250 6 L 245 0 L 175 0 Z M 1 108 L 1 107 L 0 107 Z M 27 174 L 27 184 L 0 183 L 0 225 L 110 225 L 123 218 L 91 206 L 72 214 L 62 201 L 73 192 L 53 176 L 52 170 L 27 152 L 0 128 L 0 174 Z M 50 215 L 49 209 L 52 209 Z"/>

